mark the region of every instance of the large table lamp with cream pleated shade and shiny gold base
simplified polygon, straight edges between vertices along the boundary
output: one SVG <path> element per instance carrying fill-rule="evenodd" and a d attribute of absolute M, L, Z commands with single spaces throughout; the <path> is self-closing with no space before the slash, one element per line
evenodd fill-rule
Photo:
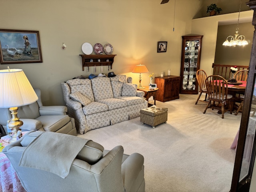
<path fill-rule="evenodd" d="M 22 69 L 8 67 L 7 70 L 0 70 L 0 108 L 10 108 L 12 114 L 12 118 L 8 121 L 8 127 L 12 130 L 10 143 L 17 140 L 17 132 L 23 125 L 17 115 L 18 107 L 37 100 L 36 92 Z"/>

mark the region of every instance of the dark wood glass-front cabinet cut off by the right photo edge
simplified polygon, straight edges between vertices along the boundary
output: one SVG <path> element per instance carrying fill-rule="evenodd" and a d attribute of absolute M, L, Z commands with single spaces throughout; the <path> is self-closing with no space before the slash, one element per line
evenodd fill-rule
<path fill-rule="evenodd" d="M 246 4 L 254 10 L 254 35 L 230 192 L 256 190 L 256 185 L 251 183 L 252 173 L 256 173 L 256 0 L 250 0 Z M 252 180 L 255 181 L 256 178 Z"/>

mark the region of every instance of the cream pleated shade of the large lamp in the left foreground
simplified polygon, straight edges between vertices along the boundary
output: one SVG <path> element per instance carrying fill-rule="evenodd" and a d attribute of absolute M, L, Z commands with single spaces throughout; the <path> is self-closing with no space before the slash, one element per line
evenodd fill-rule
<path fill-rule="evenodd" d="M 0 108 L 11 108 L 38 100 L 22 69 L 0 70 Z"/>

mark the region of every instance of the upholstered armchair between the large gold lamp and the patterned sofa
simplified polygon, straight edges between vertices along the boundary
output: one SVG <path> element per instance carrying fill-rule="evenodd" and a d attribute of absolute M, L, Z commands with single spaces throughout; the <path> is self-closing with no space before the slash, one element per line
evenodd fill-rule
<path fill-rule="evenodd" d="M 75 122 L 73 118 L 67 115 L 67 107 L 43 106 L 41 90 L 38 88 L 34 90 L 38 100 L 18 108 L 18 117 L 23 122 L 23 126 L 20 127 L 22 131 L 38 130 L 76 135 Z M 0 124 L 3 126 L 6 134 L 8 134 L 6 124 L 11 118 L 12 115 L 9 108 L 0 108 Z"/>

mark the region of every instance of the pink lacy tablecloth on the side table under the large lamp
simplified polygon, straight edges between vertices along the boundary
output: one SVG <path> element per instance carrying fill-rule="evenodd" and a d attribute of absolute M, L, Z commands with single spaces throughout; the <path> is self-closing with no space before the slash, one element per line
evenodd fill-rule
<path fill-rule="evenodd" d="M 8 136 L 0 140 L 4 146 L 8 145 Z M 0 152 L 0 191 L 1 192 L 26 192 L 5 154 Z"/>

